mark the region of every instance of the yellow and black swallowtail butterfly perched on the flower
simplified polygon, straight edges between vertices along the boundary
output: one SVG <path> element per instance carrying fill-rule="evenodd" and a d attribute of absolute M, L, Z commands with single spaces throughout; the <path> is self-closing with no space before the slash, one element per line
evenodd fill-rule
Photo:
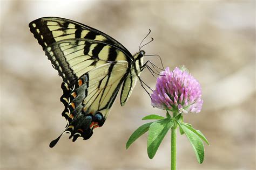
<path fill-rule="evenodd" d="M 121 105 L 129 99 L 146 67 L 145 51 L 132 55 L 107 34 L 69 19 L 44 17 L 29 27 L 63 79 L 60 101 L 67 122 L 63 133 L 70 133 L 72 141 L 89 139 L 104 124 L 121 87 Z"/>

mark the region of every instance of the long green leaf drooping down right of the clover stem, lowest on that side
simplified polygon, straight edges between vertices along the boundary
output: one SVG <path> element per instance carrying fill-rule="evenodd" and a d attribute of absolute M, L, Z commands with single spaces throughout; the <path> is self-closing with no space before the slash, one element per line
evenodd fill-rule
<path fill-rule="evenodd" d="M 193 147 L 194 153 L 196 154 L 198 163 L 202 164 L 204 161 L 204 157 L 205 157 L 203 141 L 199 138 L 199 136 L 196 133 L 194 133 L 193 131 L 188 129 L 186 125 L 180 124 L 178 121 L 177 121 L 177 123 L 179 124 L 181 129 L 186 134 L 188 140 L 190 141 L 190 143 Z"/>

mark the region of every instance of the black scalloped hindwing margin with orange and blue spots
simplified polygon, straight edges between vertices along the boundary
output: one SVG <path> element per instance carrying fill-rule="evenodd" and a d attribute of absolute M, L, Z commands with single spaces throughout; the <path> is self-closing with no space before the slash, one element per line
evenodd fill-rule
<path fill-rule="evenodd" d="M 103 125 L 105 121 L 102 114 L 99 117 L 100 113 L 92 115 L 86 114 L 83 111 L 83 101 L 86 98 L 88 81 L 89 76 L 85 74 L 73 84 L 73 87 L 69 88 L 68 84 L 62 83 L 63 95 L 60 97 L 60 101 L 62 101 L 65 107 L 62 116 L 67 121 L 65 132 L 70 133 L 70 138 L 73 137 L 72 141 L 75 141 L 79 136 L 89 139 L 93 133 L 93 129 L 90 127 L 92 121 L 97 121 L 100 125 Z M 54 145 L 51 146 L 53 147 Z"/>

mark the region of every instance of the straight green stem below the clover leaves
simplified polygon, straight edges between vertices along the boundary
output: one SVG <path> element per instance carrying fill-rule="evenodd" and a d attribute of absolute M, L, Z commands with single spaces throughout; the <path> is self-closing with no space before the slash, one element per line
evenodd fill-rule
<path fill-rule="evenodd" d="M 171 128 L 171 170 L 176 170 L 176 129 L 174 126 Z"/>

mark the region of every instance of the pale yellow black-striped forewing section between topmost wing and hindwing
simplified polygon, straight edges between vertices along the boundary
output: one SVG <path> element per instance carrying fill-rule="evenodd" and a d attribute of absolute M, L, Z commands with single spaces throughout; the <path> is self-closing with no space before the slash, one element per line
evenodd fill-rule
<path fill-rule="evenodd" d="M 107 47 L 107 53 L 99 56 L 104 47 Z M 48 46 L 45 49 L 45 54 L 53 67 L 58 70 L 59 76 L 69 86 L 83 74 L 98 67 L 99 61 L 101 61 L 100 65 L 117 59 L 130 61 L 131 63 L 129 56 L 121 48 L 91 39 L 61 40 Z"/>

